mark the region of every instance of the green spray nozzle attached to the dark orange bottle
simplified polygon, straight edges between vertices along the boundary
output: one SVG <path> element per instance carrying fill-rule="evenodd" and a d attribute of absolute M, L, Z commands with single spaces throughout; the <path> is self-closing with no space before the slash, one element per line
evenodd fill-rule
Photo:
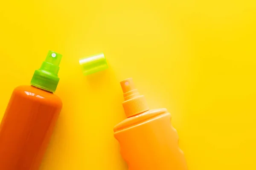
<path fill-rule="evenodd" d="M 60 80 L 58 71 L 61 58 L 62 55 L 49 51 L 40 69 L 35 70 L 31 85 L 49 92 L 55 92 Z"/>

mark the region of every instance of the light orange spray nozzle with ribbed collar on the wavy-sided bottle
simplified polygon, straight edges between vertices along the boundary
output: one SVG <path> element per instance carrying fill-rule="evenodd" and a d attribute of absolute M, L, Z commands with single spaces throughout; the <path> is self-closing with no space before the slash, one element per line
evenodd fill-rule
<path fill-rule="evenodd" d="M 149 110 L 144 95 L 140 95 L 138 90 L 135 88 L 132 78 L 125 79 L 124 81 L 121 81 L 120 84 L 125 98 L 122 105 L 127 117 Z"/>

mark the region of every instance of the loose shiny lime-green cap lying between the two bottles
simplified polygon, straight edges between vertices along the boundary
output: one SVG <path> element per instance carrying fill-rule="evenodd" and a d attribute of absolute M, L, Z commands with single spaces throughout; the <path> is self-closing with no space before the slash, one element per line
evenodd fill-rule
<path fill-rule="evenodd" d="M 103 53 L 79 60 L 84 75 L 90 75 L 108 69 L 108 64 Z"/>

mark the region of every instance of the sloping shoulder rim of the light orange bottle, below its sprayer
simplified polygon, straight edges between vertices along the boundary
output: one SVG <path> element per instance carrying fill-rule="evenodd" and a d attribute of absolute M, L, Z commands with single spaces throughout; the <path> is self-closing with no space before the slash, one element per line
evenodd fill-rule
<path fill-rule="evenodd" d="M 132 117 L 126 118 L 124 121 L 120 122 L 114 127 L 114 132 L 117 132 L 119 130 L 123 130 L 127 127 L 131 127 L 134 124 L 138 124 L 140 122 L 146 121 L 150 118 L 156 117 L 158 115 L 162 115 L 168 113 L 167 109 L 161 108 L 161 109 L 150 109 L 146 112 L 140 113 L 138 115 L 134 115 Z M 170 115 L 170 113 L 169 113 Z"/>

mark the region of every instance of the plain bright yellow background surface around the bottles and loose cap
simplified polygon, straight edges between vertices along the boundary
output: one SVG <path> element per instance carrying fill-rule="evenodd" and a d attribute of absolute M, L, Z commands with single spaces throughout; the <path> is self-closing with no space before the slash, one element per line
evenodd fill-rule
<path fill-rule="evenodd" d="M 255 0 L 1 1 L 1 117 L 48 50 L 64 106 L 41 170 L 128 170 L 113 127 L 129 77 L 172 113 L 189 170 L 256 169 Z M 99 52 L 110 68 L 84 77 Z"/>

